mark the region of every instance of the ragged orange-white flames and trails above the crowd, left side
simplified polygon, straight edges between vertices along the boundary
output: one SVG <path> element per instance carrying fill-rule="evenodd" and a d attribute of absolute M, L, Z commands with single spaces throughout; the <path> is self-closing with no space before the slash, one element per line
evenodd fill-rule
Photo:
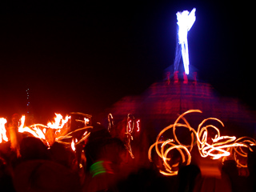
<path fill-rule="evenodd" d="M 77 114 L 77 113 L 73 113 Z M 79 113 L 81 114 L 81 113 Z M 81 143 L 86 138 L 90 136 L 90 132 L 87 131 L 88 129 L 93 128 L 92 126 L 88 126 L 90 122 L 90 118 L 84 118 L 84 120 L 75 119 L 75 121 L 79 121 L 84 123 L 82 128 L 70 131 L 70 116 L 66 115 L 65 118 L 62 117 L 62 114 L 55 114 L 55 118 L 53 122 L 48 122 L 47 126 L 43 124 L 33 124 L 31 126 L 25 125 L 26 116 L 22 115 L 20 119 L 14 119 L 11 123 L 11 126 L 8 128 L 10 129 L 10 138 L 6 136 L 6 118 L 0 118 L 0 143 L 1 142 L 12 142 L 15 140 L 14 132 L 18 130 L 19 133 L 26 133 L 30 134 L 35 138 L 39 138 L 44 142 L 47 146 L 51 146 L 54 142 L 60 142 L 65 145 L 71 145 L 71 148 L 75 150 L 75 145 Z M 82 137 L 78 140 L 72 134 L 75 132 L 82 132 Z M 75 141 L 75 142 L 74 142 Z"/>

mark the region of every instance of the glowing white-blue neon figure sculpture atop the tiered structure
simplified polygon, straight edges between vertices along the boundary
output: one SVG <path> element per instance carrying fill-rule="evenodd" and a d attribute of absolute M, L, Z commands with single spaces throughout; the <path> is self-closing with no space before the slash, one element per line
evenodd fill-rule
<path fill-rule="evenodd" d="M 184 10 L 182 12 L 178 12 L 176 15 L 178 20 L 178 43 L 174 60 L 174 71 L 178 70 L 178 64 L 182 54 L 185 73 L 189 74 L 190 61 L 189 48 L 187 43 L 187 32 L 190 30 L 195 22 L 195 8 L 191 10 L 191 12 Z"/>

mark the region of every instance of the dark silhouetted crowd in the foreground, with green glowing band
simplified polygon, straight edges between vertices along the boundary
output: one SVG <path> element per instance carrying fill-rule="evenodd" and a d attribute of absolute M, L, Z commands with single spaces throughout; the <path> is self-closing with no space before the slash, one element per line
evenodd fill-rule
<path fill-rule="evenodd" d="M 220 168 L 220 177 L 206 177 L 194 164 L 166 177 L 147 159 L 149 143 L 143 137 L 135 139 L 131 142 L 134 158 L 121 138 L 100 125 L 94 125 L 76 151 L 58 142 L 49 148 L 27 135 L 20 140 L 19 155 L 10 142 L 0 143 L 0 191 L 256 191 L 253 152 L 248 155 L 246 174 L 230 160 Z"/>

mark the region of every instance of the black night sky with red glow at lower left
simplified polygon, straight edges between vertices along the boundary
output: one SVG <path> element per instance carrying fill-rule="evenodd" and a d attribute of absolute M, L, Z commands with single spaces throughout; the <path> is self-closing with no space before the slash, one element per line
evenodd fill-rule
<path fill-rule="evenodd" d="M 197 8 L 190 64 L 253 109 L 254 23 L 246 2 L 83 1 L 0 5 L 0 115 L 89 114 L 141 94 L 173 64 L 176 12 Z M 249 21 L 248 21 L 249 20 Z M 250 85 L 249 85 L 250 84 Z"/>

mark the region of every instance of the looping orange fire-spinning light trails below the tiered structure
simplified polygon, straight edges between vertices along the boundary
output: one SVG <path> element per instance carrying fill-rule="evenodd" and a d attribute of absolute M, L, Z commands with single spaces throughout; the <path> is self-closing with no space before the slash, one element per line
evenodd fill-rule
<path fill-rule="evenodd" d="M 206 158 L 210 156 L 212 159 L 219 159 L 222 158 L 222 162 L 226 160 L 226 157 L 233 155 L 234 160 L 237 162 L 237 166 L 239 167 L 246 167 L 246 163 L 239 162 L 239 156 L 246 158 L 247 153 L 243 148 L 249 148 L 251 150 L 250 146 L 255 146 L 256 141 L 253 138 L 248 137 L 242 137 L 236 139 L 234 136 L 221 136 L 220 131 L 216 126 L 213 125 L 206 125 L 202 126 L 205 122 L 208 120 L 214 120 L 219 122 L 222 126 L 224 124 L 218 119 L 218 118 L 206 118 L 204 119 L 199 125 L 198 130 L 194 130 L 190 124 L 186 121 L 186 118 L 184 116 L 186 114 L 197 112 L 202 113 L 201 110 L 188 110 L 184 114 L 181 114 L 177 120 L 174 122 L 174 124 L 167 126 L 164 128 L 159 134 L 156 139 L 156 142 L 152 146 L 150 146 L 149 152 L 148 152 L 148 158 L 152 162 L 151 153 L 153 148 L 155 148 L 156 153 L 158 154 L 158 157 L 162 158 L 164 170 L 159 170 L 161 174 L 164 175 L 175 175 L 178 174 L 178 165 L 180 162 L 171 162 L 171 158 L 168 158 L 168 154 L 171 150 L 178 150 L 181 158 L 182 163 L 186 163 L 186 165 L 190 164 L 191 161 L 191 155 L 190 151 L 192 150 L 194 146 L 194 138 L 197 139 L 196 143 L 198 146 L 199 154 L 201 154 L 202 158 Z M 178 123 L 182 119 L 184 123 Z M 176 135 L 176 128 L 178 127 L 185 127 L 190 130 L 190 145 L 184 145 L 182 144 Z M 168 139 L 166 141 L 160 141 L 160 138 L 162 138 L 163 134 L 166 133 L 166 130 L 173 130 L 173 139 Z M 216 131 L 217 134 L 215 134 L 214 138 L 210 138 L 210 135 L 208 130 L 213 129 Z M 195 136 L 195 137 L 194 137 Z M 210 139 L 209 139 L 210 138 Z M 159 149 L 159 146 L 160 149 Z M 168 157 L 167 157 L 168 156 Z"/>

